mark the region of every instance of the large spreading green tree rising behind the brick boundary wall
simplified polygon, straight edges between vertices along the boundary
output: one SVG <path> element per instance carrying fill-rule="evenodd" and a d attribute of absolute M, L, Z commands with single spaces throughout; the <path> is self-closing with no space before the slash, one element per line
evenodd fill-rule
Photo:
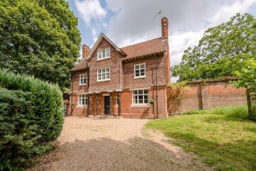
<path fill-rule="evenodd" d="M 172 76 L 179 76 L 179 81 L 234 76 L 249 58 L 256 58 L 255 52 L 256 18 L 238 13 L 207 29 L 198 46 L 186 49 L 179 65 L 171 68 Z"/>

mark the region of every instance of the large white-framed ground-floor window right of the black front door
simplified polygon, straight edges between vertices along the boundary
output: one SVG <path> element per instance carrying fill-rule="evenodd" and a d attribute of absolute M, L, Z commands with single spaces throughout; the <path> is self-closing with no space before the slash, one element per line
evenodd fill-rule
<path fill-rule="evenodd" d="M 133 104 L 148 104 L 148 90 L 134 90 Z"/>

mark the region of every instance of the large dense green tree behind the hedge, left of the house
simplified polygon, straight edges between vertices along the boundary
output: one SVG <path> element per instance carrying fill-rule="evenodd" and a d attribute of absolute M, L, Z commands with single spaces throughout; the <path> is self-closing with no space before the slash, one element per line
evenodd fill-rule
<path fill-rule="evenodd" d="M 0 12 L 0 69 L 69 87 L 81 37 L 68 3 L 3 0 Z"/>

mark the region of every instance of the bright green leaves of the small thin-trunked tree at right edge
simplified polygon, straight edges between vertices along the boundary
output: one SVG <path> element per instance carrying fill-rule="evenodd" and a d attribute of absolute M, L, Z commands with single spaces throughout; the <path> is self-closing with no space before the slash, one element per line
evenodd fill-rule
<path fill-rule="evenodd" d="M 256 92 L 256 60 L 251 58 L 246 61 L 246 66 L 234 74 L 239 77 L 238 81 L 233 81 L 234 87 L 245 88 L 249 92 Z"/>

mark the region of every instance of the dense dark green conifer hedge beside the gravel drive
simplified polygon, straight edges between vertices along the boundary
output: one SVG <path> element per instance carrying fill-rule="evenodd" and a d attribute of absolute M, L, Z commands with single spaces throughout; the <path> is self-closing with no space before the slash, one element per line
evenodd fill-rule
<path fill-rule="evenodd" d="M 0 170 L 24 168 L 62 130 L 60 89 L 33 77 L 0 70 Z"/>

